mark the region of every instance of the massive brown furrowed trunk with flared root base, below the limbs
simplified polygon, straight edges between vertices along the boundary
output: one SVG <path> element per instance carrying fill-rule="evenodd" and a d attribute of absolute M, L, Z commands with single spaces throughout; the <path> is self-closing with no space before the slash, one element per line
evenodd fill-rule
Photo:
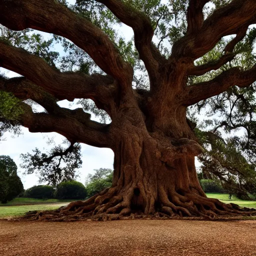
<path fill-rule="evenodd" d="M 121 112 L 122 118 L 113 121 L 110 131 L 115 136 L 112 186 L 57 212 L 37 213 L 39 219 L 74 220 L 91 216 L 116 219 L 148 215 L 214 218 L 253 213 L 251 209 L 206 197 L 194 164 L 201 147 L 194 140 L 185 115 L 168 123 L 176 128 L 164 134 L 160 128 L 149 132 L 148 127 L 142 125 L 138 110 L 122 109 Z M 152 127 L 152 123 L 149 126 Z M 185 137 L 178 138 L 178 134 Z"/>

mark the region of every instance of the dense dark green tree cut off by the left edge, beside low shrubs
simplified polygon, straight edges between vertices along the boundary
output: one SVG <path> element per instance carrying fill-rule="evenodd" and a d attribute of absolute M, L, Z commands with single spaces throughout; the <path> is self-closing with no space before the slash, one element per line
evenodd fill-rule
<path fill-rule="evenodd" d="M 23 191 L 17 165 L 7 155 L 0 155 L 0 201 L 6 203 Z"/>

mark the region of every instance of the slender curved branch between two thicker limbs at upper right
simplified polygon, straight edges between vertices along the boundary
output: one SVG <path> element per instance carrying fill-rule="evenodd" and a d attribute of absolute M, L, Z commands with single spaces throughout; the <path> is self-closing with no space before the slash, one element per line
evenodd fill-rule
<path fill-rule="evenodd" d="M 242 27 L 240 31 L 236 34 L 236 36 L 229 42 L 224 48 L 224 54 L 216 61 L 208 62 L 206 64 L 195 66 L 188 70 L 189 75 L 203 75 L 206 72 L 210 70 L 217 70 L 222 65 L 226 64 L 228 61 L 231 61 L 234 56 L 236 55 L 235 52 L 233 52 L 234 46 L 236 43 L 241 41 L 244 36 L 246 35 L 247 26 Z"/>

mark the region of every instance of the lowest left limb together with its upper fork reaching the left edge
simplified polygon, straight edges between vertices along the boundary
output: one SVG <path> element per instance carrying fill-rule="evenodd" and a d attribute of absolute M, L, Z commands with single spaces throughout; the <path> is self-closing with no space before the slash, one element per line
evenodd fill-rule
<path fill-rule="evenodd" d="M 57 132 L 69 141 L 78 141 L 99 147 L 110 146 L 109 125 L 90 120 L 90 114 L 82 108 L 68 109 L 60 107 L 57 99 L 32 84 L 25 77 L 1 78 L 0 90 L 12 92 L 19 99 L 32 99 L 43 106 L 48 113 L 33 113 L 22 103 L 24 114 L 20 122 L 31 132 Z"/>

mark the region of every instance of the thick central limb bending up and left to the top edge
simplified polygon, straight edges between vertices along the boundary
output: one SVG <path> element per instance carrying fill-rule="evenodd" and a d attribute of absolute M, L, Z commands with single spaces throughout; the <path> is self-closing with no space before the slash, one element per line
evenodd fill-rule
<path fill-rule="evenodd" d="M 149 18 L 144 13 L 134 10 L 122 0 L 97 0 L 103 3 L 124 24 L 130 26 L 134 32 L 134 44 L 140 59 L 144 62 L 151 83 L 156 79 L 159 62 L 164 57 L 152 43 L 154 29 Z"/>

